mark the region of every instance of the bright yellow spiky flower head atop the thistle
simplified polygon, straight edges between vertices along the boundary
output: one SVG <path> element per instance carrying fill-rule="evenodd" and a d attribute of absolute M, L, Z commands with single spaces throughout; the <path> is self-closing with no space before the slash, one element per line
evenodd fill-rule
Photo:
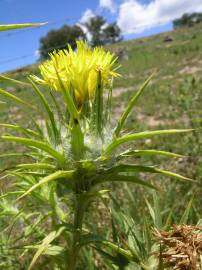
<path fill-rule="evenodd" d="M 98 73 L 102 87 L 109 85 L 112 77 L 119 76 L 114 67 L 116 60 L 114 54 L 103 48 L 91 49 L 84 41 L 78 41 L 76 51 L 68 46 L 66 50 L 50 54 L 50 60 L 39 66 L 42 79 L 34 79 L 56 91 L 72 89 L 76 101 L 83 104 L 94 97 Z"/>

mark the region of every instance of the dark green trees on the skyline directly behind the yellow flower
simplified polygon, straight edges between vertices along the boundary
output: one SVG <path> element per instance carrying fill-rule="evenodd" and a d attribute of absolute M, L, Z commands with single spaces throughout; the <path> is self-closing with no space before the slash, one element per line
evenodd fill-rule
<path fill-rule="evenodd" d="M 70 44 L 74 49 L 76 40 L 87 40 L 92 47 L 113 44 L 121 41 L 121 30 L 117 23 L 108 24 L 104 17 L 94 16 L 80 25 L 64 25 L 58 30 L 51 30 L 40 39 L 40 58 L 47 59 L 54 50 L 64 49 Z"/>

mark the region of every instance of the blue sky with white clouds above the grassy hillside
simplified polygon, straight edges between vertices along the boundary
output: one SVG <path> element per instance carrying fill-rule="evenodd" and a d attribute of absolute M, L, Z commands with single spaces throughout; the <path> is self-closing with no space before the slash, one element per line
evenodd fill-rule
<path fill-rule="evenodd" d="M 86 20 L 89 14 L 103 15 L 109 22 L 117 20 L 124 37 L 129 39 L 170 30 L 173 18 L 202 10 L 201 0 L 170 3 L 168 0 L 0 0 L 0 24 L 49 22 L 40 28 L 0 33 L 0 72 L 36 62 L 40 37 L 65 23 Z"/>

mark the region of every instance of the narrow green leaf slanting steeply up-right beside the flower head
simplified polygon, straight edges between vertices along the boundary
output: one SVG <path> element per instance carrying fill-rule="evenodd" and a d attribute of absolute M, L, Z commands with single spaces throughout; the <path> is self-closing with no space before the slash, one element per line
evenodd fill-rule
<path fill-rule="evenodd" d="M 149 84 L 149 82 L 151 81 L 153 77 L 153 74 L 145 81 L 145 83 L 141 86 L 141 88 L 134 94 L 134 96 L 131 98 L 131 100 L 128 103 L 128 106 L 126 108 L 126 110 L 124 111 L 124 113 L 122 114 L 122 116 L 120 117 L 118 124 L 115 128 L 114 131 L 114 135 L 116 137 L 119 136 L 121 129 L 123 128 L 126 119 L 128 118 L 128 116 L 130 115 L 133 107 L 135 106 L 135 104 L 137 103 L 139 97 L 141 96 L 141 94 L 143 93 L 144 89 L 147 87 L 147 85 Z"/>

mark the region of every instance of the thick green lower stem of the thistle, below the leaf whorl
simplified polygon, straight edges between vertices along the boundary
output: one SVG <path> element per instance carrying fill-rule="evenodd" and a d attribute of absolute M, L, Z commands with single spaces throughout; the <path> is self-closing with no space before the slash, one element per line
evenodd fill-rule
<path fill-rule="evenodd" d="M 75 213 L 74 213 L 74 232 L 73 242 L 69 253 L 69 264 L 67 270 L 75 270 L 80 251 L 80 238 L 83 227 L 83 217 L 86 209 L 86 204 L 82 198 L 82 194 L 76 195 L 75 198 Z"/>

